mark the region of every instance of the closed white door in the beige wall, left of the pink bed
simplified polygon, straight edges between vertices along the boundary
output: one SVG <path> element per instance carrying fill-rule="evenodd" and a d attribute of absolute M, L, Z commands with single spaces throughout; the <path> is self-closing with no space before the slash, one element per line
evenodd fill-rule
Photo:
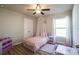
<path fill-rule="evenodd" d="M 24 37 L 33 36 L 33 20 L 24 18 Z"/>

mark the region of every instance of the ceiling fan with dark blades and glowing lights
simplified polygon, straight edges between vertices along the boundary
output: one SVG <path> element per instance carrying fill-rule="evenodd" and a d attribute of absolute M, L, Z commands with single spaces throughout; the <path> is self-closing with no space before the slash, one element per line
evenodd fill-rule
<path fill-rule="evenodd" d="M 33 15 L 35 14 L 42 14 L 44 15 L 43 11 L 50 11 L 50 9 L 41 9 L 41 5 L 37 4 L 35 9 L 27 9 L 27 11 L 33 11 Z"/>

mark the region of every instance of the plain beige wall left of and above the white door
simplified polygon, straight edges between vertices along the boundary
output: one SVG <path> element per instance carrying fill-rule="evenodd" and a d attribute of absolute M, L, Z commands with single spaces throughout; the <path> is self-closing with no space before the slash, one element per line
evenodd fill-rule
<path fill-rule="evenodd" d="M 22 42 L 24 38 L 24 18 L 33 19 L 8 9 L 0 8 L 0 37 L 11 37 L 13 45 Z"/>

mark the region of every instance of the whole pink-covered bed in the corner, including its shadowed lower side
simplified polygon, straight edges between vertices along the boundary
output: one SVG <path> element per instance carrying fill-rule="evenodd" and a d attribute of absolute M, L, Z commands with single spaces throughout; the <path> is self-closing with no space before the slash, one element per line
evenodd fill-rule
<path fill-rule="evenodd" d="M 40 47 L 47 43 L 48 37 L 36 36 L 31 38 L 24 38 L 23 43 L 26 48 L 36 52 Z"/>

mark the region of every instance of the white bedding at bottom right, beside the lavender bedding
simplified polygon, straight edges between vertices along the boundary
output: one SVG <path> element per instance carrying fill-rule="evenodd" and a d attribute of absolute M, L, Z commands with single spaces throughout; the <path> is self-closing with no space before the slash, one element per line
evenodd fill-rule
<path fill-rule="evenodd" d="M 78 55 L 78 51 L 76 48 L 58 45 L 56 49 L 56 53 L 63 54 L 63 55 Z"/>

